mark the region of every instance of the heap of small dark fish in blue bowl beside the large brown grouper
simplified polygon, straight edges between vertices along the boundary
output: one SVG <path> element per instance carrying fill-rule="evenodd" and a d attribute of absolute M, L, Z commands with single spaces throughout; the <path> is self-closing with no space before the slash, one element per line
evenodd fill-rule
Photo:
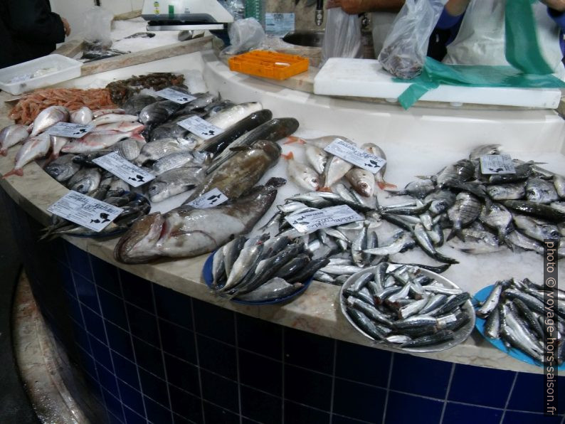
<path fill-rule="evenodd" d="M 302 240 L 240 235 L 214 254 L 211 287 L 216 294 L 235 300 L 278 300 L 300 290 L 328 262 L 313 260 Z"/>

